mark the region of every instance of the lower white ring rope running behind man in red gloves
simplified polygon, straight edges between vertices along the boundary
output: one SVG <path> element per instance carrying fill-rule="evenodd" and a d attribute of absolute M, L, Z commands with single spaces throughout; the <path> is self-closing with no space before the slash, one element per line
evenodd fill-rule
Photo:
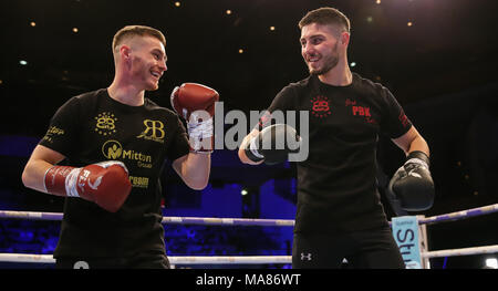
<path fill-rule="evenodd" d="M 263 264 L 291 263 L 291 256 L 201 256 L 169 257 L 172 264 Z M 52 254 L 0 253 L 0 262 L 55 263 Z"/>

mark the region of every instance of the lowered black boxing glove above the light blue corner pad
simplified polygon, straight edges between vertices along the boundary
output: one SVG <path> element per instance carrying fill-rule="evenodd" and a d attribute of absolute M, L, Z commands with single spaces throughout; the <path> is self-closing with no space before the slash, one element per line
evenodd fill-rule
<path fill-rule="evenodd" d="M 396 170 L 387 187 L 387 194 L 407 211 L 429 209 L 434 204 L 434 193 L 429 159 L 419 150 L 408 154 L 405 164 Z"/>

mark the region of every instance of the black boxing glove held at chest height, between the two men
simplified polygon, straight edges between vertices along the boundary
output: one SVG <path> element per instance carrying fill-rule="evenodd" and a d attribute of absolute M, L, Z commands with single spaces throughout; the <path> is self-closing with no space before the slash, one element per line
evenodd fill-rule
<path fill-rule="evenodd" d="M 264 127 L 247 143 L 246 156 L 252 162 L 264 160 L 267 165 L 283 163 L 289 154 L 298 153 L 301 137 L 287 124 L 274 124 Z"/>

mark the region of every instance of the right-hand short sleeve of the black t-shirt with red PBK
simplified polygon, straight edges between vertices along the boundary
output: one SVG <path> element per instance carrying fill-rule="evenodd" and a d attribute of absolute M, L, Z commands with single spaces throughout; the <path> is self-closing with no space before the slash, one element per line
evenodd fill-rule
<path fill-rule="evenodd" d="M 412 127 L 412 122 L 406 116 L 403 107 L 386 87 L 382 90 L 382 96 L 386 102 L 386 112 L 383 116 L 381 131 L 391 138 L 404 135 Z"/>

